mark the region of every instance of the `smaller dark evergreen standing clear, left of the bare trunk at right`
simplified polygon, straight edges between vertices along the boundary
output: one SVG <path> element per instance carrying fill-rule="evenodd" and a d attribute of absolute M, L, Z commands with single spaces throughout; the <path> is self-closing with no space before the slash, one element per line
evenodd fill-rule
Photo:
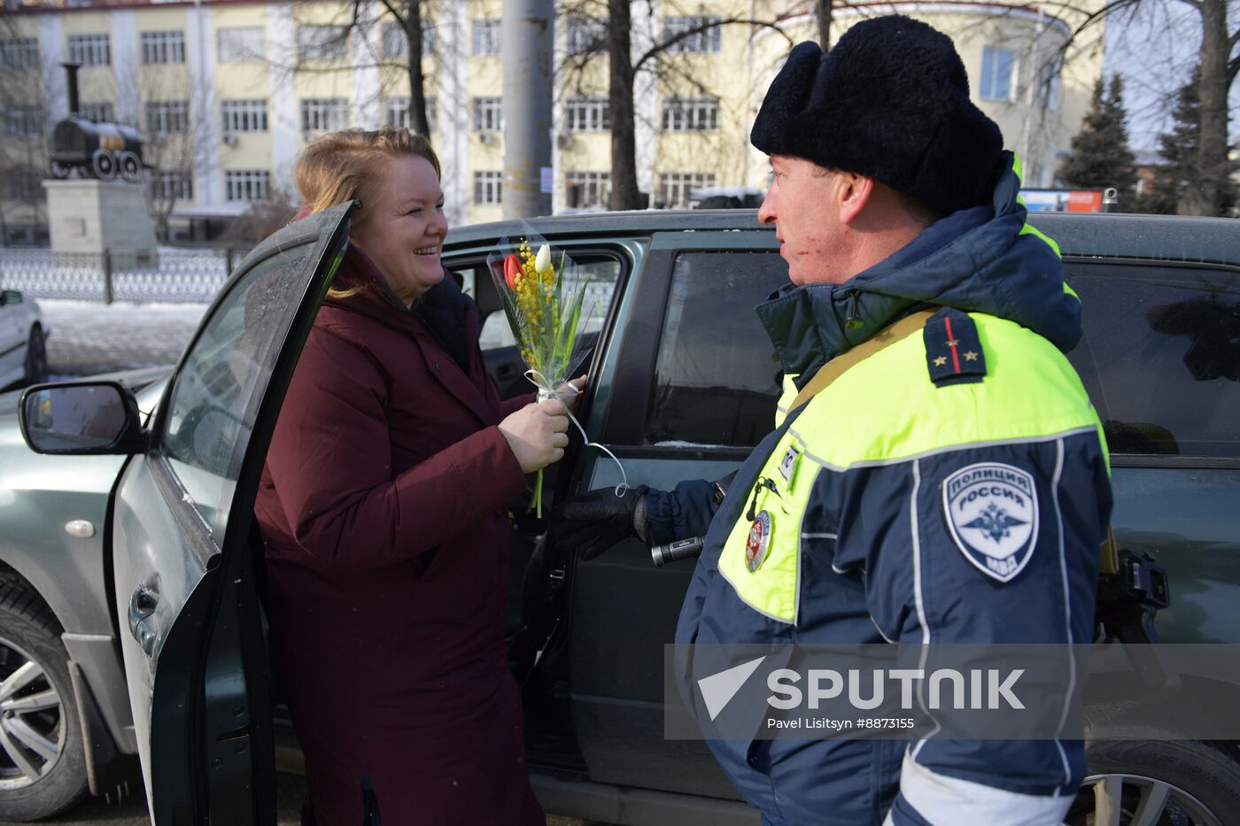
<path fill-rule="evenodd" d="M 1101 190 L 1114 186 L 1120 210 L 1131 207 L 1137 184 L 1136 159 L 1128 149 L 1125 123 L 1123 79 L 1116 74 L 1104 93 L 1102 81 L 1094 86 L 1094 103 L 1081 130 L 1073 138 L 1073 151 L 1059 166 L 1059 180 L 1068 186 Z"/>

